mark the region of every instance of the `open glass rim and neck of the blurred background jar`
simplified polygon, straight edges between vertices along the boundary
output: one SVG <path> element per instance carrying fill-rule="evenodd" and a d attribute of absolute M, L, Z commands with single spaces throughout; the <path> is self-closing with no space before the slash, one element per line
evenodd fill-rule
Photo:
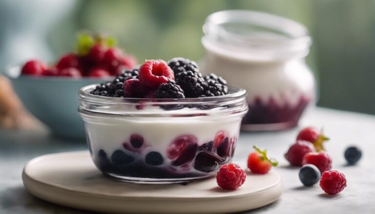
<path fill-rule="evenodd" d="M 203 45 L 210 51 L 242 60 L 305 57 L 311 38 L 291 19 L 249 10 L 226 10 L 208 16 Z"/>

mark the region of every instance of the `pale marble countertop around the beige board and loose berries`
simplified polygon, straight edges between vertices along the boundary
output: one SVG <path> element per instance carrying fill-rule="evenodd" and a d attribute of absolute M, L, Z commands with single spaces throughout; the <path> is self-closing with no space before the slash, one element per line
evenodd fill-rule
<path fill-rule="evenodd" d="M 333 169 L 343 172 L 348 180 L 347 188 L 339 195 L 326 195 L 319 185 L 302 186 L 298 168 L 290 167 L 283 157 L 298 130 L 307 125 L 323 127 L 324 133 L 331 138 L 326 148 L 333 158 Z M 234 162 L 246 166 L 246 158 L 253 145 L 267 148 L 270 155 L 279 160 L 280 165 L 275 170 L 283 178 L 285 192 L 276 202 L 248 213 L 375 213 L 375 116 L 311 109 L 298 128 L 283 132 L 241 133 Z M 362 149 L 362 159 L 356 166 L 346 165 L 343 154 L 349 145 Z M 0 213 L 91 213 L 42 201 L 30 195 L 21 180 L 23 166 L 33 157 L 85 149 L 84 142 L 55 139 L 42 132 L 0 130 Z"/>

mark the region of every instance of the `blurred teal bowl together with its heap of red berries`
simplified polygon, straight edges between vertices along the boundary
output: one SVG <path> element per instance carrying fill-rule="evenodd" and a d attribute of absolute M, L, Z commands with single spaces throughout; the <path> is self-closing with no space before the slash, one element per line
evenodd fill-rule
<path fill-rule="evenodd" d="M 78 37 L 76 50 L 47 66 L 40 60 L 5 71 L 28 111 L 55 136 L 84 139 L 83 121 L 77 114 L 77 92 L 88 84 L 111 80 L 123 70 L 133 69 L 137 60 L 104 36 Z"/>

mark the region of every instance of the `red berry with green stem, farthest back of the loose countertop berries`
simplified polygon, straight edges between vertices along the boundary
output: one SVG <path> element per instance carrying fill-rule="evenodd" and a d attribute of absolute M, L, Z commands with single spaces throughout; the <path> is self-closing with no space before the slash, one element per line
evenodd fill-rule
<path fill-rule="evenodd" d="M 324 136 L 322 131 L 319 131 L 317 128 L 310 126 L 302 129 L 299 132 L 297 140 L 306 140 L 312 142 L 315 146 L 315 149 L 317 151 L 320 151 L 324 150 L 323 143 L 324 141 L 329 140 L 329 138 Z"/>

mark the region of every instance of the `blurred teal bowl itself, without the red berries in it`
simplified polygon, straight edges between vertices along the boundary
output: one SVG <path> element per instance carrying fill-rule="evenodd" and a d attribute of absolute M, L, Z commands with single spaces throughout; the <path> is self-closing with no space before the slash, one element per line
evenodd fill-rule
<path fill-rule="evenodd" d="M 83 121 L 78 115 L 78 91 L 85 85 L 111 78 L 21 76 L 20 67 L 5 72 L 27 110 L 41 120 L 54 136 L 84 140 Z"/>

